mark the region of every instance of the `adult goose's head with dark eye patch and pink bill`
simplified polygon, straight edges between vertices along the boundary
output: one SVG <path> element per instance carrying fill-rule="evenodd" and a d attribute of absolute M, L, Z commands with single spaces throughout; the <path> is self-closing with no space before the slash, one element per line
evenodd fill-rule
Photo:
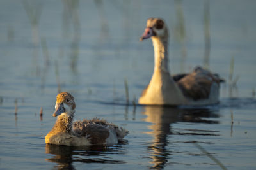
<path fill-rule="evenodd" d="M 164 20 L 161 18 L 149 18 L 147 20 L 147 26 L 143 35 L 140 38 L 140 41 L 148 38 L 160 38 L 166 39 L 168 37 L 168 29 Z"/>

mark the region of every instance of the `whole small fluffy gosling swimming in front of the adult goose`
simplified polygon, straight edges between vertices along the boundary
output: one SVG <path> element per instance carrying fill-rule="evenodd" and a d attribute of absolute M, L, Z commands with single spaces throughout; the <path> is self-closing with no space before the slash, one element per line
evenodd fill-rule
<path fill-rule="evenodd" d="M 128 131 L 122 127 L 94 118 L 73 123 L 76 103 L 68 92 L 61 92 L 56 97 L 53 116 L 57 121 L 45 136 L 45 143 L 67 146 L 86 146 L 115 144 L 122 141 Z"/>

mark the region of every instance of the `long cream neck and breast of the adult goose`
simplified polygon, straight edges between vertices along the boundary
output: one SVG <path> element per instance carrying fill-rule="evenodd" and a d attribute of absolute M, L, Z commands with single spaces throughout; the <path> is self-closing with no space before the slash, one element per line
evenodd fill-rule
<path fill-rule="evenodd" d="M 152 36 L 155 67 L 151 81 L 139 99 L 140 104 L 185 104 L 186 99 L 168 70 L 168 36 Z"/>

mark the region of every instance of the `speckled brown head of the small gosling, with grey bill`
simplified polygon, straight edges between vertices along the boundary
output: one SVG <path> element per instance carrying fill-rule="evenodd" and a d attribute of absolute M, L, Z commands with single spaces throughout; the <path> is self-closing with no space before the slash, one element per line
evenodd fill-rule
<path fill-rule="evenodd" d="M 56 97 L 55 111 L 53 117 L 58 117 L 62 113 L 74 115 L 76 103 L 74 97 L 68 92 L 61 92 Z"/>

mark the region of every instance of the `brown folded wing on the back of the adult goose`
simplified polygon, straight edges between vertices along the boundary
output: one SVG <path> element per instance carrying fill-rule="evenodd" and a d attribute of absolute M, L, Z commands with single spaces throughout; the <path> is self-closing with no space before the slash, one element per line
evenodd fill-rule
<path fill-rule="evenodd" d="M 210 71 L 202 67 L 196 69 L 177 81 L 184 96 L 192 99 L 207 99 L 211 92 L 212 83 L 219 84 L 223 79 L 219 78 L 217 74 L 212 74 Z"/>

